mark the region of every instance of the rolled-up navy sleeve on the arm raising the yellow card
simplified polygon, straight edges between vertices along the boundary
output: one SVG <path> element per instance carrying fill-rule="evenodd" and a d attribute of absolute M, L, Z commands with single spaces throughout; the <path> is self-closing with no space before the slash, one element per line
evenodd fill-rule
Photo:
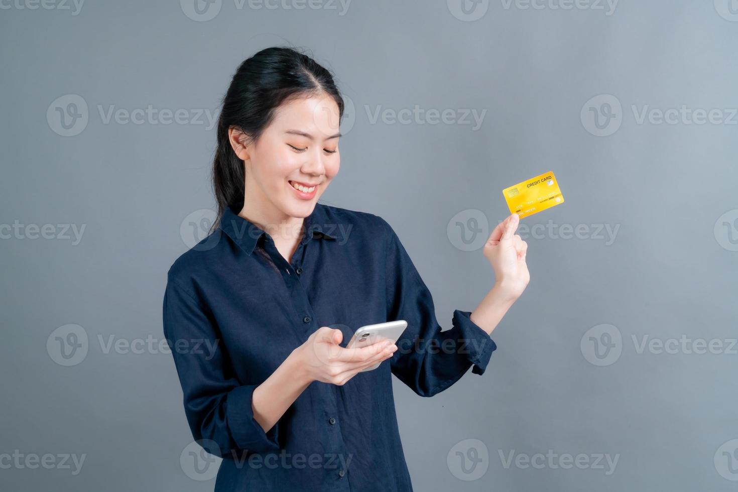
<path fill-rule="evenodd" d="M 452 328 L 441 331 L 433 299 L 396 233 L 384 226 L 387 281 L 387 319 L 404 319 L 407 329 L 397 341 L 391 368 L 404 384 L 421 396 L 432 396 L 458 381 L 469 367 L 483 374 L 497 348 L 489 333 L 455 310 Z"/>

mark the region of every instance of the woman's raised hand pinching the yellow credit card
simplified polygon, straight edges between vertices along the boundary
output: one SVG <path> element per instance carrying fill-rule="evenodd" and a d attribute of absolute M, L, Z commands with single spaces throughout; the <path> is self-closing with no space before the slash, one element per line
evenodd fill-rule
<path fill-rule="evenodd" d="M 528 243 L 515 234 L 520 218 L 511 214 L 497 224 L 484 245 L 484 256 L 492 263 L 495 282 L 510 297 L 520 297 L 531 280 L 525 254 Z"/>

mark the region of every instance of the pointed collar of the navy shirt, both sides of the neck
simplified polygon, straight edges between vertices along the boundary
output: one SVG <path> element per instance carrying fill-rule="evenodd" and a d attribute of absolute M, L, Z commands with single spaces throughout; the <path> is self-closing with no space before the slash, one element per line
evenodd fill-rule
<path fill-rule="evenodd" d="M 312 238 L 336 239 L 337 236 L 335 234 L 326 231 L 334 230 L 334 227 L 329 226 L 336 226 L 338 224 L 328 224 L 323 207 L 323 204 L 316 203 L 311 214 L 305 218 L 303 227 L 308 231 L 308 234 L 303 235 L 303 238 L 300 240 L 301 243 L 306 244 Z M 268 235 L 261 227 L 237 215 L 230 207 L 226 207 L 224 210 L 218 229 L 225 232 L 229 238 L 249 255 L 254 251 L 259 238 L 262 235 Z"/>

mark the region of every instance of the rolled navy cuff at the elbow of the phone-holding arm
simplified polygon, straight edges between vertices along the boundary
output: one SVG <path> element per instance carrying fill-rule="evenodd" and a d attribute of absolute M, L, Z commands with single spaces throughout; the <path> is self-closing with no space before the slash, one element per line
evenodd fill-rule
<path fill-rule="evenodd" d="M 256 385 L 244 385 L 228 393 L 226 415 L 233 440 L 239 448 L 255 453 L 279 451 L 279 421 L 269 432 L 264 432 L 261 424 L 254 418 L 251 406 L 254 389 Z"/>

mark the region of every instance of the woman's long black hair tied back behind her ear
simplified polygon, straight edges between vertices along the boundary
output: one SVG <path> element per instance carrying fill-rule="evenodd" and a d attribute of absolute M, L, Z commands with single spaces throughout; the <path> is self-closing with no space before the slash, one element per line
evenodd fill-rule
<path fill-rule="evenodd" d="M 275 109 L 288 97 L 325 92 L 343 116 L 343 98 L 328 69 L 288 46 L 272 46 L 247 58 L 238 67 L 223 97 L 218 117 L 218 148 L 213 159 L 213 193 L 220 224 L 226 207 L 236 213 L 244 207 L 244 162 L 238 159 L 228 139 L 235 126 L 255 142 L 274 119 Z"/>

